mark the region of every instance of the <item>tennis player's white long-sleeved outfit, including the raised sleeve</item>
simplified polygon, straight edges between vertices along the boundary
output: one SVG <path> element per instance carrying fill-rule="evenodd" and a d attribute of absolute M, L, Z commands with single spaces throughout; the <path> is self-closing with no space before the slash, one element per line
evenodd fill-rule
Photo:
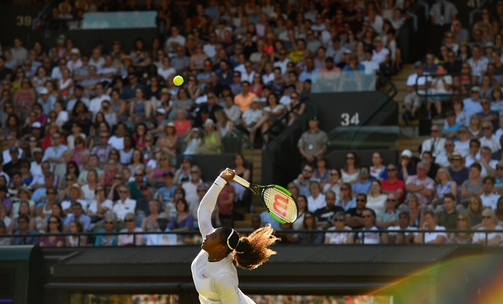
<path fill-rule="evenodd" d="M 223 178 L 217 177 L 199 205 L 197 214 L 203 239 L 214 230 L 211 212 L 225 184 Z M 239 281 L 232 264 L 232 253 L 219 262 L 208 262 L 208 253 L 201 250 L 192 262 L 191 270 L 201 304 L 256 304 L 237 287 Z"/>

